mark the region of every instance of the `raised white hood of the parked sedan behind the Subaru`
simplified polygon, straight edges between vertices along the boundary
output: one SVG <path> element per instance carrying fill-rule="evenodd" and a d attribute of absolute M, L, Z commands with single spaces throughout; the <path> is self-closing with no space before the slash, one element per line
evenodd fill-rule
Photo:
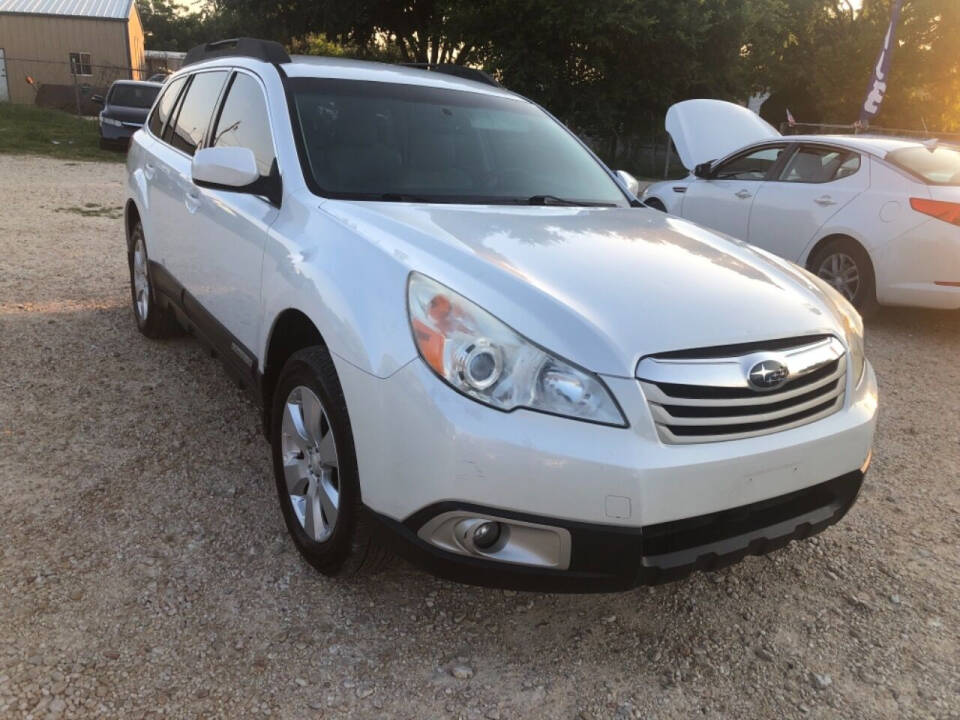
<path fill-rule="evenodd" d="M 780 137 L 756 113 L 723 100 L 685 100 L 671 105 L 666 127 L 687 170 L 726 157 L 745 145 Z"/>

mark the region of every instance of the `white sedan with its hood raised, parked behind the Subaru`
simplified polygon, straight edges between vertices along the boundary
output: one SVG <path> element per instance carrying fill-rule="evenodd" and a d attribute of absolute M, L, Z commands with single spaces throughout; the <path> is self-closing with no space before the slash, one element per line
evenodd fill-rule
<path fill-rule="evenodd" d="M 667 131 L 692 173 L 648 187 L 648 206 L 798 263 L 863 313 L 960 308 L 960 149 L 784 137 L 719 100 L 674 105 Z"/>

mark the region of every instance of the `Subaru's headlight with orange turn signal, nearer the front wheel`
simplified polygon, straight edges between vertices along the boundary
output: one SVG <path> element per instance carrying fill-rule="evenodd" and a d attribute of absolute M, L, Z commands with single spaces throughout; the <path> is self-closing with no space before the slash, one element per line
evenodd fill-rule
<path fill-rule="evenodd" d="M 507 412 L 523 407 L 626 427 L 600 378 L 542 350 L 444 285 L 411 273 L 407 301 L 420 356 L 458 392 Z"/>

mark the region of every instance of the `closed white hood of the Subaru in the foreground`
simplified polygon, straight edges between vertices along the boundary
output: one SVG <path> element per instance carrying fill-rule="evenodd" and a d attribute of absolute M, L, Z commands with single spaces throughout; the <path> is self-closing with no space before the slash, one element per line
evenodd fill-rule
<path fill-rule="evenodd" d="M 327 201 L 323 209 L 515 330 L 595 372 L 654 353 L 824 332 L 802 271 L 646 208 Z"/>

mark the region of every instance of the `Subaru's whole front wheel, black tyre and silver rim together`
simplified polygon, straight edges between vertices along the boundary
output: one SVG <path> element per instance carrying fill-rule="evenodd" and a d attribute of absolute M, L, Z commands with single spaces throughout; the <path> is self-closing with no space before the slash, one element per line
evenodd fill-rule
<path fill-rule="evenodd" d="M 287 530 L 325 575 L 374 572 L 391 554 L 363 512 L 353 432 L 330 354 L 294 353 L 274 393 L 274 476 Z"/>

